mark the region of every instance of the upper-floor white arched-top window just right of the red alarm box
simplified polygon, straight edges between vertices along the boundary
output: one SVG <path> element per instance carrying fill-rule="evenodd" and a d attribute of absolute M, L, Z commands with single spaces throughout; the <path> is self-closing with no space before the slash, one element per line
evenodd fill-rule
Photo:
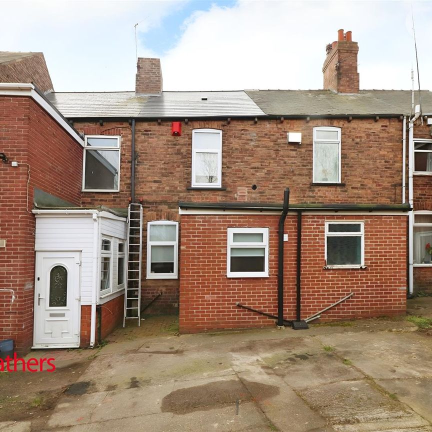
<path fill-rule="evenodd" d="M 192 187 L 221 187 L 222 131 L 192 130 Z"/>

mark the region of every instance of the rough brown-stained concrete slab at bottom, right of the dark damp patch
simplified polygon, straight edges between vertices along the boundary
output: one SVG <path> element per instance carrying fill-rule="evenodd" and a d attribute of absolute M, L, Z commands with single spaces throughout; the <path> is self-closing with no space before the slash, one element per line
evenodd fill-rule
<path fill-rule="evenodd" d="M 403 427 L 430 426 L 412 409 L 393 400 L 379 391 L 373 382 L 366 380 L 325 384 L 302 390 L 300 394 L 341 431 L 398 431 Z"/>

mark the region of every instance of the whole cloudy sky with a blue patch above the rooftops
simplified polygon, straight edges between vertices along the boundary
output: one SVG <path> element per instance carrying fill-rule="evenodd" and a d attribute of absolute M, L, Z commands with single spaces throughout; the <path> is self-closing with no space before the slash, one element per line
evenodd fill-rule
<path fill-rule="evenodd" d="M 1 1 L 1 0 L 0 0 Z M 325 45 L 358 42 L 360 88 L 432 90 L 432 1 L 0 2 L 0 50 L 42 51 L 56 91 L 133 90 L 136 53 L 164 90 L 322 88 Z"/>

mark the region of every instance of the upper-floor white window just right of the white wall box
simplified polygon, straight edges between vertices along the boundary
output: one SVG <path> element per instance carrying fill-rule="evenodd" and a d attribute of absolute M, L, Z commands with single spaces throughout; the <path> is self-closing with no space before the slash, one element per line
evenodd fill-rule
<path fill-rule="evenodd" d="M 340 127 L 313 128 L 313 183 L 340 183 Z"/>

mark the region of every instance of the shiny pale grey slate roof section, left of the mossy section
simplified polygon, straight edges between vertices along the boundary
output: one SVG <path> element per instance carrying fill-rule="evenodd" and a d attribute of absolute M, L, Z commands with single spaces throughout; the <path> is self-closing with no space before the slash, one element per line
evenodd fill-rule
<path fill-rule="evenodd" d="M 244 91 L 134 91 L 62 93 L 46 95 L 68 118 L 79 117 L 235 117 L 265 113 Z"/>

